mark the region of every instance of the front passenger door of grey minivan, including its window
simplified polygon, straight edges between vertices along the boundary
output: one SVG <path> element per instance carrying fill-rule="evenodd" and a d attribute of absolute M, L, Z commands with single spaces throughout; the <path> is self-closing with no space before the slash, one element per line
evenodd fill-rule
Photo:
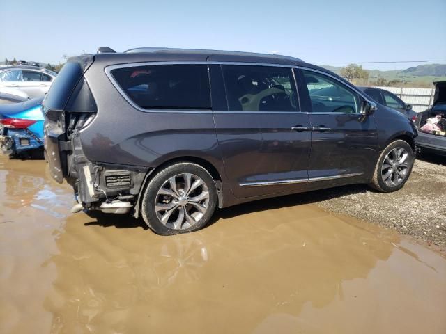
<path fill-rule="evenodd" d="M 377 154 L 373 116 L 361 117 L 363 98 L 330 74 L 301 70 L 302 100 L 312 124 L 309 181 L 344 183 L 369 177 Z M 348 183 L 347 181 L 346 183 Z"/>

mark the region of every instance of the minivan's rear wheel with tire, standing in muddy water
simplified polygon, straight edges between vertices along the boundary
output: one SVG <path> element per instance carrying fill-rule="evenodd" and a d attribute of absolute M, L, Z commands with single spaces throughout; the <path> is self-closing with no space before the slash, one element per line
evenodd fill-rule
<path fill-rule="evenodd" d="M 213 177 L 197 164 L 181 162 L 167 166 L 148 183 L 141 215 L 155 233 L 178 234 L 203 228 L 216 205 Z"/>

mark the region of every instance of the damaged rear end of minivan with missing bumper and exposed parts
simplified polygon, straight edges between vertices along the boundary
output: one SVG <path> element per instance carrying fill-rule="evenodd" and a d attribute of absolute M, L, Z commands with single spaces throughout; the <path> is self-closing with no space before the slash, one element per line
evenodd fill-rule
<path fill-rule="evenodd" d="M 95 56 L 70 58 L 43 100 L 45 157 L 52 178 L 66 180 L 75 191 L 72 212 L 125 214 L 134 208 L 147 170 L 105 166 L 84 154 L 81 133 L 98 112 L 84 77 L 94 61 Z"/>

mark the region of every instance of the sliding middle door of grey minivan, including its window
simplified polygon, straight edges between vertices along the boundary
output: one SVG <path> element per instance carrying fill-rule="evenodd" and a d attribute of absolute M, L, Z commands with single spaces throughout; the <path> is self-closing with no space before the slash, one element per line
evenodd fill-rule
<path fill-rule="evenodd" d="M 304 189 L 311 127 L 300 112 L 291 67 L 221 65 L 221 71 L 227 106 L 213 113 L 234 195 Z"/>

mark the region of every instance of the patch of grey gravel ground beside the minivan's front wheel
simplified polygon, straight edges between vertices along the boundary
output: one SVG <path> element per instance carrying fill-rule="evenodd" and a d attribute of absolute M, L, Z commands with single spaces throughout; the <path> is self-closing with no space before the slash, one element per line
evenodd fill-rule
<path fill-rule="evenodd" d="M 377 193 L 364 185 L 327 189 L 312 198 L 331 212 L 394 228 L 446 250 L 446 158 L 417 157 L 410 179 L 400 191 Z M 316 197 L 318 197 L 316 195 Z"/>

